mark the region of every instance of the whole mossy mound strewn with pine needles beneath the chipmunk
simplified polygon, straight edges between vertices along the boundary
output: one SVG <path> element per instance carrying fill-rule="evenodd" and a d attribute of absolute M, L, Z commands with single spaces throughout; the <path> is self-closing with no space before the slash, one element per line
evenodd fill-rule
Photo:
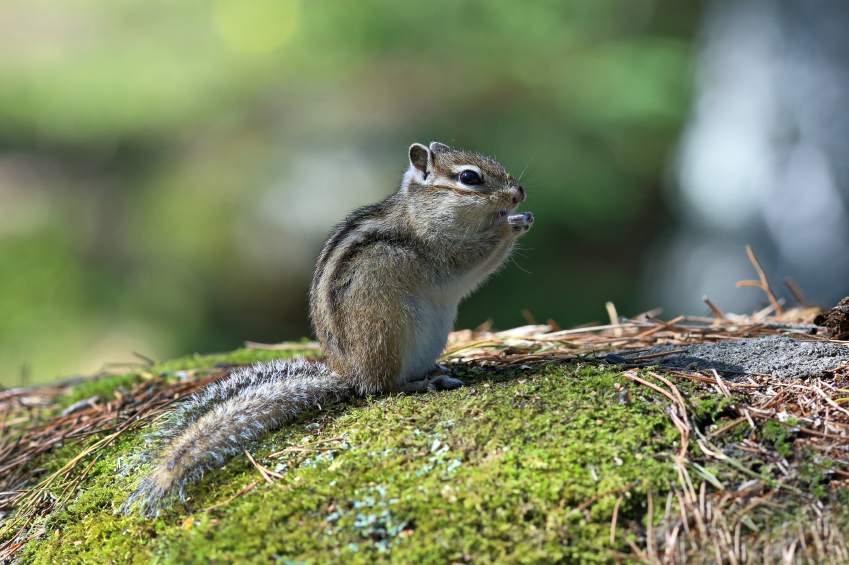
<path fill-rule="evenodd" d="M 465 387 L 308 413 L 155 524 L 112 510 L 143 429 L 234 366 L 316 357 L 315 344 L 2 391 L 0 562 L 144 562 L 143 547 L 262 562 L 402 562 L 415 548 L 509 561 L 519 547 L 609 563 L 847 562 L 849 342 L 813 323 L 819 309 L 784 309 L 759 273 L 744 286 L 770 305 L 751 316 L 707 299 L 713 318 L 620 318 L 611 304 L 606 325 L 454 332 L 441 363 Z M 297 538 L 299 524 L 330 533 Z"/>

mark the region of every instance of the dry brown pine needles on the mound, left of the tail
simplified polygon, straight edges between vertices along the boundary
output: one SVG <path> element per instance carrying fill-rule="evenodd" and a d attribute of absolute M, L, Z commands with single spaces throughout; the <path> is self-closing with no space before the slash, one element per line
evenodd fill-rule
<path fill-rule="evenodd" d="M 54 507 L 71 499 L 75 488 L 94 465 L 82 461 L 96 456 L 125 432 L 143 426 L 167 410 L 172 402 L 220 378 L 226 369 L 201 371 L 188 380 L 167 383 L 141 371 L 145 380 L 124 392 L 115 391 L 115 399 L 99 403 L 97 396 L 76 402 L 55 416 L 57 400 L 82 382 L 71 379 L 32 389 L 0 392 L 0 517 L 15 510 L 14 520 L 0 528 L 0 562 L 10 558 L 23 545 L 43 531 L 27 528 L 36 518 L 50 514 Z M 94 378 L 108 376 L 97 375 Z M 21 425 L 26 423 L 26 425 Z M 83 444 L 94 436 L 103 436 L 82 448 L 77 456 L 45 478 L 43 465 L 57 448 Z M 56 497 L 53 492 L 61 494 Z M 14 532 L 14 533 L 13 533 Z"/>

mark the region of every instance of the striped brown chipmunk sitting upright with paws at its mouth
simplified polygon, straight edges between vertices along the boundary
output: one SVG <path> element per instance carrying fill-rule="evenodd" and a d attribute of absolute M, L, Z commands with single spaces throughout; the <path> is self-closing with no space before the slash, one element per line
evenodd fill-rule
<path fill-rule="evenodd" d="M 258 363 L 200 390 L 154 435 L 155 467 L 125 510 L 158 514 L 311 405 L 463 385 L 436 365 L 457 305 L 534 218 L 514 213 L 525 191 L 488 157 L 415 143 L 409 158 L 398 190 L 349 215 L 319 254 L 309 297 L 324 361 Z"/>

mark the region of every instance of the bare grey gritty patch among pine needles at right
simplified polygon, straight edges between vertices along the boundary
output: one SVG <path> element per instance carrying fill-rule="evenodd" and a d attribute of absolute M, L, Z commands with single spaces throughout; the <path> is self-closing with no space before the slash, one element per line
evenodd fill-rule
<path fill-rule="evenodd" d="M 799 341 L 783 336 L 702 343 L 689 347 L 659 346 L 640 352 L 638 356 L 681 349 L 683 353 L 652 359 L 650 362 L 669 368 L 716 369 L 732 381 L 745 380 L 746 373 L 772 375 L 782 380 L 818 377 L 824 371 L 833 371 L 849 364 L 849 346 Z"/>

